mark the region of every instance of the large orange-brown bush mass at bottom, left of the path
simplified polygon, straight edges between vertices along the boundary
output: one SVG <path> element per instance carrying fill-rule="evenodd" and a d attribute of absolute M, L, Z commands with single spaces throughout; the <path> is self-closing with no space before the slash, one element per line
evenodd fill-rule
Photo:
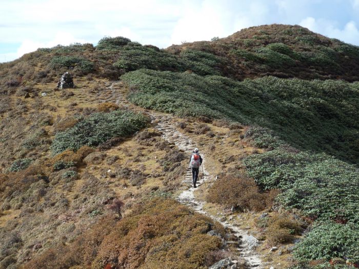
<path fill-rule="evenodd" d="M 207 254 L 221 245 L 219 238 L 206 234 L 211 229 L 224 235 L 208 217 L 172 199 L 154 198 L 121 221 L 105 216 L 73 243 L 43 252 L 25 267 L 205 268 Z"/>

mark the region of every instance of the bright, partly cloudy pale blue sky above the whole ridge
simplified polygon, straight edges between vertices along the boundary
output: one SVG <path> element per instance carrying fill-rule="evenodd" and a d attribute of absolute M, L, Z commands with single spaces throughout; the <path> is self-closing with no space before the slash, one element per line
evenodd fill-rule
<path fill-rule="evenodd" d="M 359 0 L 0 0 L 0 63 L 37 48 L 125 36 L 143 45 L 301 25 L 359 46 Z"/>

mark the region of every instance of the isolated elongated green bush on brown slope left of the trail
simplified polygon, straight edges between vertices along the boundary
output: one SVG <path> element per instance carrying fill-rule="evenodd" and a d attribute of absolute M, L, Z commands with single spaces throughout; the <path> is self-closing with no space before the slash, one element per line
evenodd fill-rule
<path fill-rule="evenodd" d="M 98 146 L 114 137 L 126 137 L 147 125 L 148 118 L 122 110 L 93 113 L 64 132 L 56 133 L 51 145 L 53 154 L 66 149 L 78 150 L 82 146 Z"/>

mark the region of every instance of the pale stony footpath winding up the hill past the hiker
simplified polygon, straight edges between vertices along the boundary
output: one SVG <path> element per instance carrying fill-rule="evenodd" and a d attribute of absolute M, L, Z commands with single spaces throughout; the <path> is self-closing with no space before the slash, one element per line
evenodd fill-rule
<path fill-rule="evenodd" d="M 126 89 L 123 86 L 121 81 L 112 81 L 107 82 L 105 89 L 99 91 L 104 102 L 112 101 L 117 105 L 123 105 L 128 107 L 128 101 L 125 98 Z M 151 122 L 155 125 L 155 128 L 162 133 L 162 137 L 169 142 L 175 144 L 178 149 L 183 150 L 189 156 L 194 148 L 196 148 L 194 142 L 188 137 L 179 132 L 173 125 L 173 116 L 162 113 L 151 113 Z M 261 261 L 260 255 L 255 252 L 255 247 L 258 244 L 256 238 L 248 234 L 248 232 L 239 229 L 237 226 L 230 224 L 227 220 L 221 220 L 221 217 L 213 216 L 210 213 L 204 210 L 205 201 L 198 201 L 194 195 L 194 192 L 201 188 L 201 184 L 204 182 L 213 182 L 215 178 L 213 175 L 210 175 L 206 170 L 206 157 L 201 152 L 201 155 L 204 159 L 203 165 L 201 167 L 200 176 L 198 176 L 197 189 L 192 188 L 192 175 L 190 170 L 187 171 L 184 180 L 182 181 L 183 187 L 185 190 L 178 195 L 177 200 L 189 206 L 195 212 L 204 214 L 210 217 L 213 220 L 220 222 L 226 229 L 227 235 L 223 239 L 224 244 L 231 246 L 231 250 L 234 255 L 240 256 L 246 261 L 247 268 L 263 268 L 263 263 Z M 221 265 L 225 266 L 224 268 L 236 268 L 235 262 L 230 259 L 222 260 Z M 218 264 L 219 265 L 219 264 Z M 221 268 L 220 266 L 211 266 L 210 268 Z"/>

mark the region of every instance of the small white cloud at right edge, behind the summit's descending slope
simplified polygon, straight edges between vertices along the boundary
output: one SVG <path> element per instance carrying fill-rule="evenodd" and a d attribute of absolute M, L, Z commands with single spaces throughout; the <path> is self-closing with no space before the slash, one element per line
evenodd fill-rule
<path fill-rule="evenodd" d="M 321 33 L 330 38 L 337 38 L 346 43 L 359 44 L 359 30 L 354 21 L 348 22 L 342 29 L 337 27 L 337 23 L 326 19 L 315 19 L 307 17 L 300 23 L 301 26 L 309 30 Z"/>

